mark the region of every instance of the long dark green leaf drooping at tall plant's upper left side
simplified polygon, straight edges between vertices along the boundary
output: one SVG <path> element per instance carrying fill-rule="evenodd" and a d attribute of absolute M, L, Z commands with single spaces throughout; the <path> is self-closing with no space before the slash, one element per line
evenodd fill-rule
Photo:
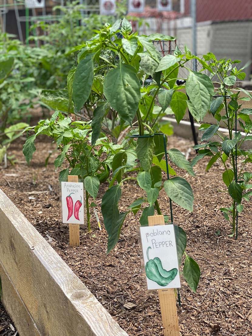
<path fill-rule="evenodd" d="M 73 99 L 78 112 L 87 101 L 94 80 L 93 53 L 88 53 L 77 65 L 73 80 Z"/>

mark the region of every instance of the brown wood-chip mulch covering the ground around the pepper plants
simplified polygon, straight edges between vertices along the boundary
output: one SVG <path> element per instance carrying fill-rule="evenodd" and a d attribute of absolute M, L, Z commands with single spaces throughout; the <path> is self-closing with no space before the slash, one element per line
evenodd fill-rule
<path fill-rule="evenodd" d="M 0 166 L 3 192 L 130 336 L 163 335 L 158 296 L 156 292 L 146 291 L 143 281 L 139 217 L 128 215 L 119 243 L 107 255 L 107 233 L 100 212 L 102 192 L 107 187 L 103 184 L 96 200 L 102 230 L 98 229 L 92 212 L 92 232 L 87 234 L 86 229 L 81 228 L 80 247 L 70 248 L 68 227 L 61 223 L 59 169 L 55 170 L 53 165 L 58 153 L 47 138 L 38 138 L 37 151 L 29 167 L 22 153 L 24 141 L 25 138 L 20 138 L 8 150 L 9 155 L 15 156 L 15 165 Z M 168 138 L 168 147 L 187 153 L 189 160 L 195 155 L 192 146 L 190 140 Z M 51 157 L 45 167 L 49 153 Z M 173 218 L 187 234 L 187 254 L 201 268 L 197 293 L 184 284 L 180 289 L 181 306 L 177 306 L 180 332 L 182 336 L 251 335 L 252 206 L 246 203 L 239 216 L 238 239 L 228 237 L 231 224 L 219 211 L 220 207 L 230 206 L 221 178 L 223 168 L 215 163 L 206 172 L 206 163 L 203 160 L 195 166 L 196 177 L 177 169 L 178 175 L 190 182 L 195 202 L 193 213 L 173 205 Z M 120 211 L 125 211 L 135 197 L 141 195 L 134 181 L 125 183 Z M 165 194 L 161 195 L 160 207 L 169 215 L 169 200 Z M 17 336 L 7 319 L 0 306 L 0 336 Z M 14 329 L 13 324 L 11 327 Z"/>

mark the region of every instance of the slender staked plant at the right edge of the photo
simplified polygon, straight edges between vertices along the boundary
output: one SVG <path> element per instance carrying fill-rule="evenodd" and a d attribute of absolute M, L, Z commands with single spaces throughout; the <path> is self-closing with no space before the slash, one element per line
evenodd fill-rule
<path fill-rule="evenodd" d="M 244 143 L 252 140 L 250 118 L 252 109 L 242 108 L 242 103 L 251 100 L 252 95 L 242 88 L 233 89 L 237 79 L 243 80 L 246 76 L 242 71 L 243 68 L 238 70 L 236 67 L 240 61 L 217 60 L 212 53 L 204 55 L 204 59 L 209 62 L 212 69 L 210 78 L 214 77 L 216 84 L 218 84 L 210 106 L 215 124 L 202 124 L 199 128 L 204 131 L 201 138 L 203 143 L 194 147 L 198 150 L 198 155 L 193 159 L 192 165 L 194 166 L 198 160 L 205 156 L 210 158 L 206 170 L 216 161 L 223 165 L 222 179 L 227 186 L 232 204 L 230 207 L 222 207 L 220 210 L 225 219 L 232 223 L 230 236 L 236 235 L 237 238 L 238 213 L 243 211 L 244 205 L 242 203 L 249 201 L 249 196 L 252 195 L 252 174 L 246 171 L 247 163 L 252 162 L 252 150 L 243 149 Z M 242 131 L 237 131 L 238 122 Z M 220 132 L 220 126 L 227 129 L 227 135 Z M 214 139 L 212 139 L 213 136 L 215 136 Z M 241 164 L 238 165 L 237 160 L 240 160 Z"/>

